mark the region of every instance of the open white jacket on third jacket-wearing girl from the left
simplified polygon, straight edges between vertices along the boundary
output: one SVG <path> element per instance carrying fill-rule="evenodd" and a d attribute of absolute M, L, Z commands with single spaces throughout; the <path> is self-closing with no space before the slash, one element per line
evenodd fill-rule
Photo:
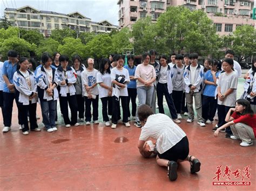
<path fill-rule="evenodd" d="M 75 83 L 77 82 L 77 74 L 76 71 L 70 67 L 66 67 L 66 77 L 65 77 L 65 71 L 63 70 L 62 66 L 59 66 L 55 72 L 55 78 L 60 86 L 60 91 L 59 94 L 62 97 L 66 97 L 67 92 L 70 93 L 70 95 L 75 95 L 76 94 L 76 88 L 75 88 Z M 65 80 L 66 84 L 65 85 L 60 85 L 60 83 Z M 69 84 L 71 84 L 69 86 Z"/>

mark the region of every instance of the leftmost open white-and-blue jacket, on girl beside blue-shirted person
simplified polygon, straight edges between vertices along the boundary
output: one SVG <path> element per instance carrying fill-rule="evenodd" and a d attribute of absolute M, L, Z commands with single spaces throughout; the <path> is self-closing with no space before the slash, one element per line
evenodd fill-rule
<path fill-rule="evenodd" d="M 26 79 L 21 73 L 21 71 L 16 71 L 14 73 L 14 85 L 16 88 L 16 98 L 18 99 L 18 102 L 21 103 L 22 105 L 29 105 L 29 97 L 32 96 L 34 93 L 37 93 L 37 83 L 35 79 L 35 75 L 29 72 L 29 78 L 31 81 L 31 90 L 29 85 L 26 83 Z M 34 97 L 31 99 L 31 103 L 35 104 L 37 103 L 38 97 Z"/>

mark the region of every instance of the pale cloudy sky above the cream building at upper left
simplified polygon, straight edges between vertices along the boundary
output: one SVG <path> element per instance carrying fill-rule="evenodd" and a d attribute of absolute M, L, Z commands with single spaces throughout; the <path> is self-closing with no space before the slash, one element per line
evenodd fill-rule
<path fill-rule="evenodd" d="M 71 13 L 78 11 L 92 21 L 99 22 L 107 20 L 118 25 L 117 0 L 0 0 L 0 17 L 4 16 L 4 9 L 21 8 L 30 5 L 33 8 L 44 11 L 55 11 L 60 13 Z"/>

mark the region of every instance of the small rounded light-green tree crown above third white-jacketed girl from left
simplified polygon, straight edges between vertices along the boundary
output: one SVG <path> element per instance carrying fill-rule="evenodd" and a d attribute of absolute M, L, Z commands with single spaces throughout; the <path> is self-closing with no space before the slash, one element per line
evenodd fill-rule
<path fill-rule="evenodd" d="M 65 54 L 68 57 L 72 57 L 74 54 L 79 54 L 80 57 L 85 56 L 85 46 L 82 44 L 79 38 L 66 37 L 63 39 L 63 45 L 59 45 L 58 52 Z"/>

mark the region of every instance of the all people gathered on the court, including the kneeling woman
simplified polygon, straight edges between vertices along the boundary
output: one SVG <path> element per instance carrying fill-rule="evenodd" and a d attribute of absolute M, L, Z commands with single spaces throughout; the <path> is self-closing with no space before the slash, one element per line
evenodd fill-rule
<path fill-rule="evenodd" d="M 38 102 L 44 127 L 47 132 L 53 132 L 58 130 L 58 99 L 66 127 L 79 126 L 84 117 L 86 125 L 90 125 L 91 120 L 98 124 L 100 99 L 105 126 L 117 128 L 118 123 L 123 123 L 130 127 L 132 120 L 137 127 L 143 125 L 138 142 L 140 153 L 145 157 L 157 155 L 157 163 L 169 169 L 168 176 L 173 181 L 177 179 L 177 162 L 190 161 L 191 173 L 200 170 L 199 160 L 188 155 L 186 134 L 177 125 L 183 118 L 182 112 L 188 115 L 187 122 L 193 122 L 194 98 L 198 125 L 212 124 L 218 111 L 218 124 L 212 129 L 215 137 L 219 132 L 226 132 L 226 138 L 241 140 L 241 146 L 253 145 L 256 135 L 256 58 L 244 77 L 242 99 L 236 100 L 241 66 L 233 60 L 232 50 L 226 51 L 221 62 L 206 59 L 204 66 L 198 64 L 197 53 L 171 54 L 171 63 L 165 55 L 159 56 L 158 63 L 156 56 L 155 50 L 144 53 L 142 64 L 136 66 L 132 55 L 127 57 L 127 65 L 124 65 L 122 55 L 111 54 L 101 60 L 99 70 L 96 70 L 92 58 L 87 59 L 85 66 L 75 55 L 70 66 L 69 57 L 65 55 L 56 52 L 52 57 L 43 53 L 41 65 L 36 67 L 34 60 L 18 59 L 18 53 L 10 50 L 8 60 L 0 62 L 3 132 L 11 129 L 14 99 L 24 135 L 29 134 L 29 129 L 41 131 L 37 125 Z M 172 119 L 164 115 L 164 96 Z M 156 104 L 159 114 L 156 114 Z M 150 144 L 149 139 L 155 139 L 156 145 Z"/>

